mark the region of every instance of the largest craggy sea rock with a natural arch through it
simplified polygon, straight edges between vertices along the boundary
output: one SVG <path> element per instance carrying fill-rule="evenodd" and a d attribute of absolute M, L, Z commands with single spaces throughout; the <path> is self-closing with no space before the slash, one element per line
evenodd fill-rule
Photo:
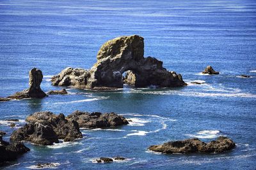
<path fill-rule="evenodd" d="M 65 85 L 86 89 L 102 87 L 122 88 L 122 74 L 131 71 L 135 87 L 180 87 L 186 85 L 180 74 L 167 71 L 163 62 L 154 57 L 143 57 L 144 39 L 141 36 L 122 36 L 101 46 L 97 62 L 90 70 L 67 67 L 53 76 L 52 85 Z M 128 81 L 128 80 L 127 80 Z"/>

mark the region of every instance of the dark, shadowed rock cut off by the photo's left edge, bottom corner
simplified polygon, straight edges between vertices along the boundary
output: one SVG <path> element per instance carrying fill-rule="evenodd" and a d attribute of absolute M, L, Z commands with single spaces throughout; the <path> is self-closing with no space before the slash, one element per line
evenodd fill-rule
<path fill-rule="evenodd" d="M 8 143 L 3 141 L 3 135 L 5 132 L 0 133 L 0 166 L 6 161 L 12 161 L 17 159 L 19 155 L 29 152 L 27 148 L 22 143 Z"/>

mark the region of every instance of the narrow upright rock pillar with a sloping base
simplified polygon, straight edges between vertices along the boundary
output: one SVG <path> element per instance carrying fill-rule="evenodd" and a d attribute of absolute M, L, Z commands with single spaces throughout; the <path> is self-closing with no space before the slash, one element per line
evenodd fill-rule
<path fill-rule="evenodd" d="M 47 96 L 40 88 L 40 84 L 43 80 L 43 74 L 40 69 L 33 68 L 29 71 L 29 89 L 25 89 L 21 92 L 16 92 L 9 99 L 24 99 L 24 98 L 43 98 Z"/>

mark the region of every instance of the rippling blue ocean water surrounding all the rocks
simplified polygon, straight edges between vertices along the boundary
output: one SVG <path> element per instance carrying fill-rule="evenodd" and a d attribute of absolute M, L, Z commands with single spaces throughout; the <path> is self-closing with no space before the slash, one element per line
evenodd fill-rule
<path fill-rule="evenodd" d="M 43 71 L 42 89 L 65 67 L 90 69 L 107 40 L 138 34 L 145 57 L 163 60 L 182 74 L 187 87 L 92 92 L 68 89 L 67 96 L 0 103 L 4 121 L 17 127 L 35 111 L 68 115 L 75 110 L 123 114 L 132 120 L 115 129 L 81 130 L 83 139 L 53 146 L 26 143 L 31 151 L 6 169 L 54 162 L 60 169 L 255 169 L 256 166 L 256 1 L 167 0 L 1 0 L 0 96 L 28 87 L 28 71 Z M 219 75 L 200 74 L 212 65 Z M 251 78 L 240 78 L 248 74 Z M 191 81 L 204 82 L 202 85 Z M 77 94 L 77 92 L 79 94 Z M 237 146 L 221 154 L 161 155 L 150 145 L 170 140 L 224 135 Z M 97 157 L 122 156 L 124 162 L 95 164 Z"/>

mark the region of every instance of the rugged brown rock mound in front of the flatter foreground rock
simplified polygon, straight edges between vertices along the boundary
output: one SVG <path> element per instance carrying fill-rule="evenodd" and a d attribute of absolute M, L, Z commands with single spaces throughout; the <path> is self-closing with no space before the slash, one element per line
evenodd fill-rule
<path fill-rule="evenodd" d="M 38 145 L 59 143 L 58 139 L 74 141 L 82 138 L 79 125 L 75 120 L 67 120 L 61 113 L 54 115 L 50 111 L 36 112 L 26 118 L 28 124 L 17 129 L 11 135 L 11 141 L 31 141 Z"/>

